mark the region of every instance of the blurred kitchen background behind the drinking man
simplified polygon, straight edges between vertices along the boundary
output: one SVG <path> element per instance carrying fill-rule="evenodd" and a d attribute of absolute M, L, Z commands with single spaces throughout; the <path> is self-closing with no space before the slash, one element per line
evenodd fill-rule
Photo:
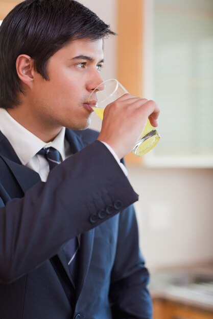
<path fill-rule="evenodd" d="M 19 2 L 1 0 L 0 19 Z M 161 108 L 158 145 L 126 158 L 154 319 L 212 319 L 213 0 L 79 2 L 118 34 L 105 40 L 103 79 Z"/>

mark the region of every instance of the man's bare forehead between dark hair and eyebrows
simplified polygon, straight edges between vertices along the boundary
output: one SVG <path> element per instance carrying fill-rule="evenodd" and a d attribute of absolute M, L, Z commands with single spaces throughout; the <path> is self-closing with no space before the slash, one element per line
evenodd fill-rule
<path fill-rule="evenodd" d="M 88 56 L 93 60 L 102 60 L 104 58 L 103 39 L 93 40 L 78 39 L 68 43 L 58 50 L 54 56 L 63 55 L 68 59 L 74 59 L 78 56 Z"/>

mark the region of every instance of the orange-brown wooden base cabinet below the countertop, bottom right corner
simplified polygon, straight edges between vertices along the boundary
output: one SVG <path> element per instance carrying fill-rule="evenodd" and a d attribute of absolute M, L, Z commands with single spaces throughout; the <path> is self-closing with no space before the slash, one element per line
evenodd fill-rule
<path fill-rule="evenodd" d="M 213 319 L 213 310 L 163 299 L 153 300 L 153 308 L 153 319 Z"/>

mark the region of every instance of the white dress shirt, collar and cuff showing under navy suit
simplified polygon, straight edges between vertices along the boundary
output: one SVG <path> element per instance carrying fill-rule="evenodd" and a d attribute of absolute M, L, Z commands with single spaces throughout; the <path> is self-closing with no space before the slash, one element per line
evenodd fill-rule
<path fill-rule="evenodd" d="M 37 172 L 42 181 L 46 181 L 50 170 L 48 161 L 46 161 L 45 157 L 37 154 L 41 148 L 54 147 L 59 151 L 61 161 L 64 161 L 65 158 L 72 155 L 69 143 L 64 138 L 65 127 L 62 127 L 61 131 L 52 142 L 45 143 L 28 129 L 20 125 L 5 109 L 0 108 L 0 130 L 12 145 L 21 164 Z M 107 143 L 102 143 L 109 149 L 117 163 L 119 163 L 124 174 L 127 176 L 127 169 L 120 162 L 114 150 Z"/>

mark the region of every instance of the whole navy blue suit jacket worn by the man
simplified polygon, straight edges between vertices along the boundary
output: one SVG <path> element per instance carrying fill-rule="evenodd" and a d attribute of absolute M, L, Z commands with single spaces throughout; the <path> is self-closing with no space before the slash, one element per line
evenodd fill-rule
<path fill-rule="evenodd" d="M 14 132 L 15 134 L 15 132 Z M 0 132 L 0 318 L 151 318 L 138 199 L 92 130 L 66 130 L 73 156 L 47 182 Z M 63 245 L 81 234 L 75 289 Z"/>

